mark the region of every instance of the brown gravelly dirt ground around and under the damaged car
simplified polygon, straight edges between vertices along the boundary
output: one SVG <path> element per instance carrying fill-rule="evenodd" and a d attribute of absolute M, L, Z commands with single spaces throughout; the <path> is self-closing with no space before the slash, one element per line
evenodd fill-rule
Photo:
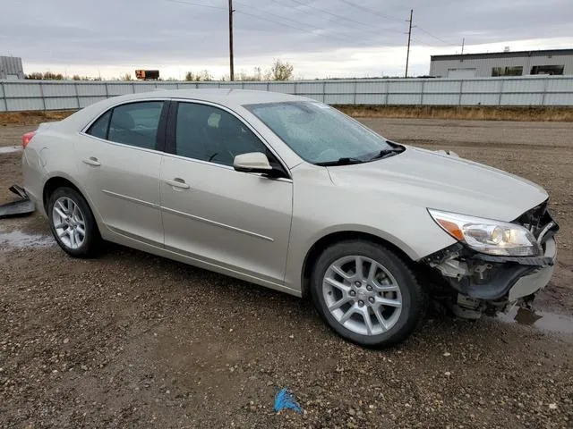
<path fill-rule="evenodd" d="M 548 331 L 430 315 L 397 348 L 361 349 L 272 290 L 114 245 L 73 260 L 33 214 L 0 221 L 0 427 L 573 427 L 573 123 L 363 122 L 548 189 Z M 31 129 L 0 126 L 0 147 Z M 20 156 L 0 153 L 0 201 Z M 283 386 L 303 415 L 273 412 Z"/>

